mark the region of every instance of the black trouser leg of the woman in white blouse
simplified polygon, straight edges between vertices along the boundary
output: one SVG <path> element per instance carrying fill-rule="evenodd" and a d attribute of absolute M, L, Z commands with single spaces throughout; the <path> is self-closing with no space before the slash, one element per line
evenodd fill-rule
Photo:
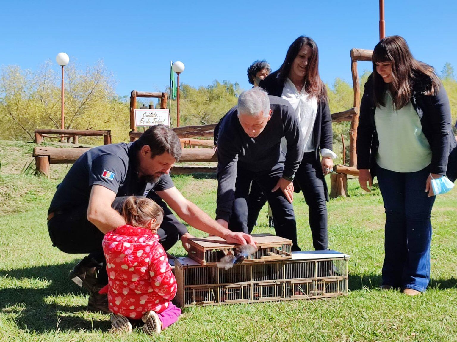
<path fill-rule="evenodd" d="M 327 233 L 327 202 L 325 199 L 324 175 L 321 164 L 316 160 L 314 152 L 306 152 L 295 173 L 306 204 L 309 208 L 309 227 L 313 235 L 313 247 L 316 250 L 329 248 Z"/>

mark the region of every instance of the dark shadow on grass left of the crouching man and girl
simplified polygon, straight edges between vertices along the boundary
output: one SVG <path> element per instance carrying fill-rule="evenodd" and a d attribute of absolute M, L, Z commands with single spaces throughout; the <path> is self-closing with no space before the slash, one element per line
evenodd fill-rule
<path fill-rule="evenodd" d="M 60 304 L 74 301 L 73 298 L 65 298 L 65 296 L 73 297 L 84 292 L 68 279 L 69 270 L 74 267 L 74 264 L 0 271 L 1 277 L 19 280 L 27 286 L 16 285 L 0 289 L 1 312 L 12 315 L 18 329 L 23 330 L 47 332 L 54 331 L 57 327 L 60 331 L 108 330 L 111 326 L 109 321 L 84 317 L 87 316 L 86 305 Z M 37 279 L 42 282 L 48 281 L 49 285 L 44 288 L 33 288 L 34 284 L 37 284 Z M 27 280 L 30 284 L 27 284 Z M 40 287 L 40 285 L 35 286 Z M 51 298 L 49 301 L 48 297 L 53 297 L 55 300 Z"/>

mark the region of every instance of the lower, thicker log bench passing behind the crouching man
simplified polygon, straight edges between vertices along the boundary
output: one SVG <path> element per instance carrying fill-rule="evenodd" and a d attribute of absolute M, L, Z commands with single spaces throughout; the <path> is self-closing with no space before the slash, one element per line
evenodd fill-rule
<path fill-rule="evenodd" d="M 33 149 L 35 157 L 36 174 L 49 176 L 50 164 L 73 164 L 78 158 L 90 148 L 65 148 L 65 147 L 42 147 L 36 146 Z M 217 154 L 212 149 L 183 149 L 179 162 L 207 162 L 217 161 Z"/>

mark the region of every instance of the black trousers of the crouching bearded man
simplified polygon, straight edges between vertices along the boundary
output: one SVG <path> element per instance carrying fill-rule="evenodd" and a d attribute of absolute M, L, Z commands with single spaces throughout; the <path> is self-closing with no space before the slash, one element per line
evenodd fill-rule
<path fill-rule="evenodd" d="M 165 250 L 170 249 L 180 239 L 178 227 L 181 231 L 182 228 L 186 228 L 155 192 L 150 192 L 148 197 L 164 209 L 164 221 L 157 234 L 159 234 L 160 243 Z M 122 204 L 126 198 L 116 197 L 112 203 L 112 208 L 121 212 Z M 105 234 L 87 220 L 87 207 L 88 204 L 85 204 L 72 210 L 54 213 L 54 217 L 48 222 L 49 237 L 53 245 L 62 252 L 70 254 L 88 253 L 89 258 L 103 264 L 98 275 L 98 282 L 99 285 L 106 285 L 108 275 L 106 274 L 105 255 L 101 246 Z"/>

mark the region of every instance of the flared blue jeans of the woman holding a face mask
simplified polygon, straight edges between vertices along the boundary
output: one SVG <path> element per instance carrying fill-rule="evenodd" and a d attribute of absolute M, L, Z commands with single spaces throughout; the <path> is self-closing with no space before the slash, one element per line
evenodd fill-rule
<path fill-rule="evenodd" d="M 430 213 L 435 202 L 435 196 L 425 192 L 429 168 L 376 170 L 386 209 L 383 285 L 423 292 L 430 281 Z"/>

